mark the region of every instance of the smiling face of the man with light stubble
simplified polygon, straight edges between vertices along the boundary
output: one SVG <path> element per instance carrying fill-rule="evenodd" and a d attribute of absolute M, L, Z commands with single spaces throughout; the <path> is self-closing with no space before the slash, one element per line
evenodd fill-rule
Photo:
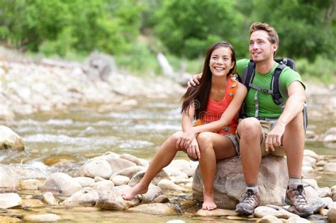
<path fill-rule="evenodd" d="M 265 30 L 256 30 L 250 35 L 250 56 L 254 62 L 273 60 L 277 49 L 276 43 L 269 42 L 269 35 Z"/>

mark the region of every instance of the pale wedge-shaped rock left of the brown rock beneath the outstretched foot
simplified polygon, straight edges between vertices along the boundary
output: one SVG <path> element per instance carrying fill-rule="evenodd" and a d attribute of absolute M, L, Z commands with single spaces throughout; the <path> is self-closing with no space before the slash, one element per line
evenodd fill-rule
<path fill-rule="evenodd" d="M 99 199 L 99 193 L 91 188 L 83 188 L 77 191 L 71 197 L 62 202 L 65 206 L 85 206 L 91 207 L 96 205 Z"/>

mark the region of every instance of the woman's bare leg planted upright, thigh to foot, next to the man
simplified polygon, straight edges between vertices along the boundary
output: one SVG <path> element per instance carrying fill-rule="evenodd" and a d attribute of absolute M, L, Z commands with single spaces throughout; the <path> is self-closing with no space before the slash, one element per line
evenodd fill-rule
<path fill-rule="evenodd" d="M 213 198 L 216 160 L 237 156 L 237 152 L 228 137 L 217 133 L 201 132 L 197 142 L 201 152 L 201 159 L 198 161 L 204 185 L 202 209 L 213 210 L 217 207 Z"/>

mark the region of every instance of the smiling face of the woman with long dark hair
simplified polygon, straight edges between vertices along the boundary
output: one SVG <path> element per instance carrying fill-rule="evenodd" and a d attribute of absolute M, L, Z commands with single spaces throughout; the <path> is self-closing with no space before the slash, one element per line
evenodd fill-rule
<path fill-rule="evenodd" d="M 218 47 L 211 53 L 209 67 L 215 76 L 225 76 L 235 66 L 232 61 L 232 51 L 228 47 Z"/>

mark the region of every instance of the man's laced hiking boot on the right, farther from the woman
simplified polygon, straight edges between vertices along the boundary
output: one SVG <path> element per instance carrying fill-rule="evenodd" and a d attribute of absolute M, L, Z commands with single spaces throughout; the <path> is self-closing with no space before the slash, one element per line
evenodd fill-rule
<path fill-rule="evenodd" d="M 289 185 L 286 190 L 286 203 L 293 205 L 296 211 L 303 215 L 313 215 L 313 205 L 311 205 L 307 198 L 302 184 Z"/>

